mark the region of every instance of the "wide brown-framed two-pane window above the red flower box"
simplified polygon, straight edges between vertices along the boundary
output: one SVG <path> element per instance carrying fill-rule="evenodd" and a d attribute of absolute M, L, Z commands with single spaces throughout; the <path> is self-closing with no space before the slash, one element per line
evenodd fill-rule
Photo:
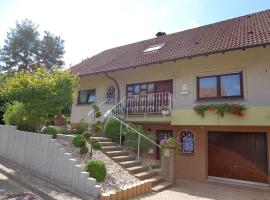
<path fill-rule="evenodd" d="M 226 99 L 243 98 L 242 72 L 197 77 L 197 98 Z"/>

